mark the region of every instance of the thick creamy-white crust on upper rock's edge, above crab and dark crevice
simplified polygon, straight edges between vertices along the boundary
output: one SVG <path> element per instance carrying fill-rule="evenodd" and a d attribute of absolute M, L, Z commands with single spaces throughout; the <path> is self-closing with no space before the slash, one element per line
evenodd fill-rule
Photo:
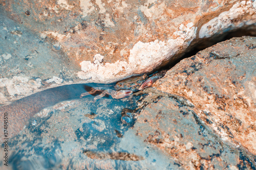
<path fill-rule="evenodd" d="M 210 37 L 217 33 L 222 33 L 230 29 L 234 30 L 256 22 L 256 2 L 242 1 L 234 4 L 229 11 L 222 12 L 218 17 L 211 19 L 203 25 L 199 31 L 199 38 Z M 249 20 L 241 20 L 242 16 L 250 14 Z M 179 31 L 174 35 L 176 39 L 170 38 L 167 42 L 155 40 L 154 42 L 137 42 L 130 50 L 129 62 L 117 61 L 115 63 L 99 64 L 96 60 L 82 61 L 81 70 L 78 72 L 80 79 L 94 83 L 112 83 L 133 74 L 150 72 L 163 61 L 172 58 L 180 53 L 182 49 L 189 46 L 191 41 L 197 38 L 197 27 L 190 22 L 186 26 L 180 25 Z M 100 55 L 100 54 L 96 54 Z M 95 56 L 96 56 L 95 55 Z M 102 56 L 103 57 L 103 56 Z M 121 74 L 120 74 L 121 73 Z"/>

